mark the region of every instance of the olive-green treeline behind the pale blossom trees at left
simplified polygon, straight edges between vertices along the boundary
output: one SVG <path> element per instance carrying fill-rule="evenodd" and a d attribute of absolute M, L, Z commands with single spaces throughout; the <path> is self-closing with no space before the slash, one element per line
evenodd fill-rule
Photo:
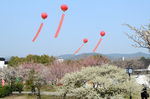
<path fill-rule="evenodd" d="M 23 63 L 41 63 L 49 65 L 54 62 L 56 58 L 48 55 L 28 55 L 26 57 L 12 56 L 8 62 L 9 66 L 18 66 Z"/>

